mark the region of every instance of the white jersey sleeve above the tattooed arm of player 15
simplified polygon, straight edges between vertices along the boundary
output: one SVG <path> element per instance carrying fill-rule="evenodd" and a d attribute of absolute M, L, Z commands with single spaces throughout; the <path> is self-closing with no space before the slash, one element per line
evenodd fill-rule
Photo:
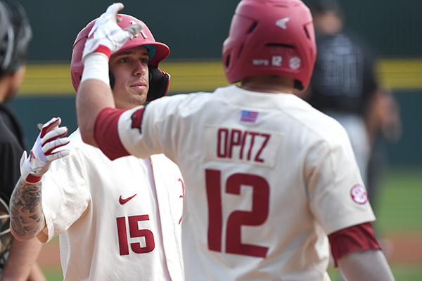
<path fill-rule="evenodd" d="M 49 242 L 68 230 L 82 216 L 90 202 L 87 175 L 75 150 L 51 163 L 42 178 L 42 207 L 46 228 L 38 239 Z"/>

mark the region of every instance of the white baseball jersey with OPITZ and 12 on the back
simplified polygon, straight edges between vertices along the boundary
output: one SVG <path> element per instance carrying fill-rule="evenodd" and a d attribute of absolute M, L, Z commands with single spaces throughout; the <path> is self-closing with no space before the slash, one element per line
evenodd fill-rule
<path fill-rule="evenodd" d="M 118 135 L 184 175 L 188 281 L 329 280 L 327 235 L 375 220 L 345 129 L 293 94 L 161 98 L 122 113 Z"/>

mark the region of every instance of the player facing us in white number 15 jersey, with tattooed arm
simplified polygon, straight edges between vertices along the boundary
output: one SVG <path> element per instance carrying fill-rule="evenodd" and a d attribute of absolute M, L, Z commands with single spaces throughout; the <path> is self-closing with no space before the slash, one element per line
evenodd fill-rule
<path fill-rule="evenodd" d="M 141 24 L 130 15 L 119 17 L 122 28 Z M 95 22 L 79 32 L 73 46 L 76 91 Z M 170 49 L 143 26 L 110 58 L 113 103 L 124 110 L 164 96 L 169 84 L 158 64 Z M 57 118 L 45 124 L 30 157 L 22 159 L 11 200 L 13 235 L 43 243 L 60 235 L 66 281 L 184 280 L 179 241 L 184 181 L 177 165 L 162 154 L 112 162 L 83 143 L 79 130 L 65 138 L 67 129 L 59 124 Z"/>

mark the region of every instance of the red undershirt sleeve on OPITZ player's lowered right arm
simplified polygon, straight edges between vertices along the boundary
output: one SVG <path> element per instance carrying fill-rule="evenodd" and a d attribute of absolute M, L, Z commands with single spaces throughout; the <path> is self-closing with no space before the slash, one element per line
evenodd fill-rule
<path fill-rule="evenodd" d="M 328 235 L 331 245 L 331 254 L 337 267 L 338 259 L 343 258 L 352 251 L 381 249 L 376 240 L 371 223 L 361 223 L 350 226 Z"/>

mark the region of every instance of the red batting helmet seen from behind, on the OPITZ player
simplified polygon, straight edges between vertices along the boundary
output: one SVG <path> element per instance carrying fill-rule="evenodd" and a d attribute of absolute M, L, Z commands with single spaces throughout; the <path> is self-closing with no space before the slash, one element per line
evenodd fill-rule
<path fill-rule="evenodd" d="M 223 44 L 230 84 L 251 76 L 295 79 L 306 89 L 314 70 L 316 45 L 309 8 L 300 0 L 243 0 Z"/>

